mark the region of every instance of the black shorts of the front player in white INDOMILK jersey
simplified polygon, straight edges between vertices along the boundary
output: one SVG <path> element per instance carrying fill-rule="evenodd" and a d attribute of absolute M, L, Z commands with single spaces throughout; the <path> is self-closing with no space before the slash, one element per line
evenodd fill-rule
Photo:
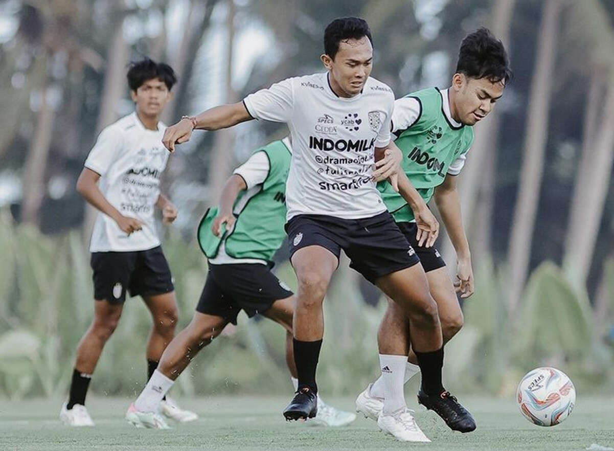
<path fill-rule="evenodd" d="M 387 211 L 362 219 L 299 214 L 287 222 L 286 232 L 290 259 L 306 246 L 322 246 L 337 258 L 343 249 L 351 260 L 350 267 L 371 283 L 420 262 Z"/>

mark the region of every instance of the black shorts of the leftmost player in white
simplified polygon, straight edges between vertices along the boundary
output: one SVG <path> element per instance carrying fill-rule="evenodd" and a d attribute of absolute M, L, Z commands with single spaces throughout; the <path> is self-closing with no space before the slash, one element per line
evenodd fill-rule
<path fill-rule="evenodd" d="M 121 303 L 130 296 L 173 291 L 173 277 L 160 246 L 146 251 L 93 252 L 94 299 Z"/>

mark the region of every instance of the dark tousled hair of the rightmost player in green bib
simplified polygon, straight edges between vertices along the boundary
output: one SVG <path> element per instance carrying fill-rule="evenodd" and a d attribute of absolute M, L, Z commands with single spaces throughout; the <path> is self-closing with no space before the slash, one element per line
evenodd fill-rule
<path fill-rule="evenodd" d="M 505 47 L 488 28 L 478 28 L 462 40 L 456 72 L 503 84 L 512 76 Z"/>

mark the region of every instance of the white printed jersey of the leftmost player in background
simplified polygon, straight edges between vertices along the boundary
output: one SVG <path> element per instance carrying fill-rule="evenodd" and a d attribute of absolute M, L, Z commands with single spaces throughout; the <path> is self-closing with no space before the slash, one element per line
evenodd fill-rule
<path fill-rule="evenodd" d="M 106 200 L 123 216 L 143 222 L 143 228 L 129 236 L 99 212 L 90 252 L 144 251 L 160 245 L 153 211 L 169 155 L 161 142 L 165 128 L 158 122 L 158 130 L 148 130 L 134 112 L 101 131 L 85 167 L 101 175 L 99 188 Z"/>

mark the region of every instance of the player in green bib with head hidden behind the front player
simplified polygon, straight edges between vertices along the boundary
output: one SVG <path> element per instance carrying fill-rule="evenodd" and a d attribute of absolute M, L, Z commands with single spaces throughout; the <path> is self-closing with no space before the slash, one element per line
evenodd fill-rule
<path fill-rule="evenodd" d="M 286 179 L 292 147 L 289 138 L 257 149 L 228 178 L 219 208 L 211 208 L 198 226 L 198 243 L 209 261 L 192 322 L 169 343 L 150 383 L 126 412 L 138 427 L 164 429 L 158 406 L 166 391 L 204 346 L 228 323 L 236 324 L 241 310 L 260 313 L 286 329 L 286 361 L 294 389 L 297 369 L 292 347 L 292 291 L 272 272 L 273 255 L 286 232 Z M 343 412 L 317 399 L 314 423 L 348 425 L 356 414 Z"/>

